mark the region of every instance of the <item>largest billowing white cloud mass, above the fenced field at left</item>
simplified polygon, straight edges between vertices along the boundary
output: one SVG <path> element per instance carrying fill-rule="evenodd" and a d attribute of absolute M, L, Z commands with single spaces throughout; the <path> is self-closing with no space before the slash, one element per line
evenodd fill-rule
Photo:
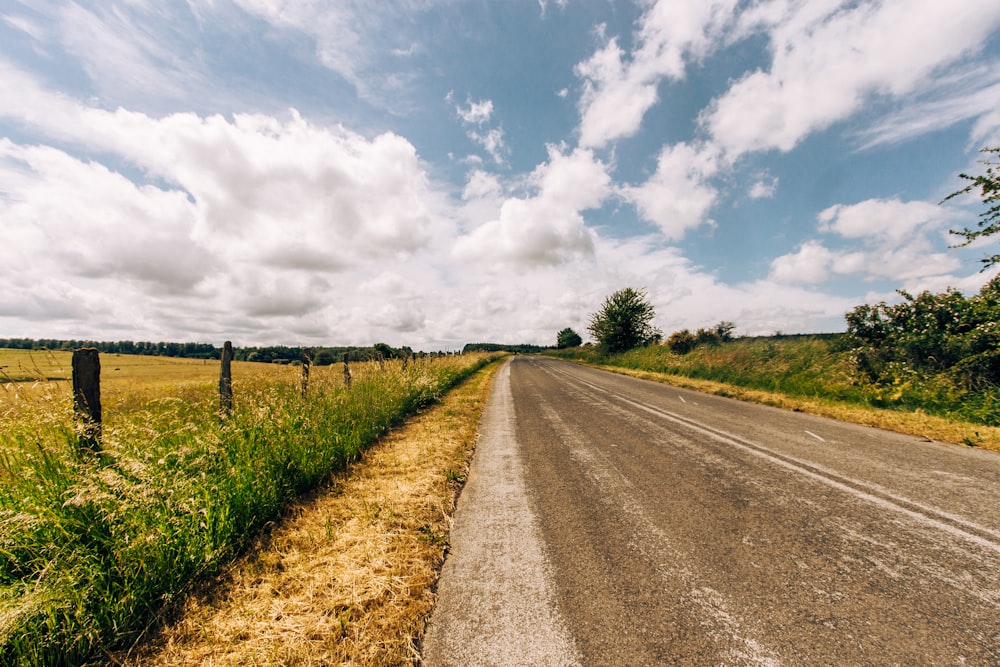
<path fill-rule="evenodd" d="M 349 293 L 341 274 L 404 266 L 450 236 L 444 195 L 398 135 L 367 139 L 294 111 L 285 119 L 112 113 L 7 71 L 15 76 L 0 84 L 0 117 L 100 161 L 0 143 L 0 219 L 18 248 L 0 273 L 42 303 L 73 292 L 67 285 L 115 294 L 88 298 L 88 326 L 131 322 L 147 332 L 133 337 L 163 336 L 158 313 L 169 312 L 191 326 L 185 338 L 243 317 L 280 336 L 301 330 L 295 320 L 308 314 L 339 330 L 346 325 L 330 296 Z M 10 92 L 18 104 L 7 102 Z M 31 278 L 38 273 L 47 280 Z M 3 311 L 35 312 L 24 303 Z"/>

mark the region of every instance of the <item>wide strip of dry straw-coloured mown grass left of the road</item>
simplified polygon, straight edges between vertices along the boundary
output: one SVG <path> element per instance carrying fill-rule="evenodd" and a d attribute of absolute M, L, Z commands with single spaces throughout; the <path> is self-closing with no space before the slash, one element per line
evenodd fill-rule
<path fill-rule="evenodd" d="M 127 665 L 409 665 L 497 364 L 295 504 Z"/>

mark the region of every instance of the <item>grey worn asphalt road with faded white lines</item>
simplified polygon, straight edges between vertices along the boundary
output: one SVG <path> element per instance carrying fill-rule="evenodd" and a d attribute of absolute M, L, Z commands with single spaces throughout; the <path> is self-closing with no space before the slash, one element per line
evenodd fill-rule
<path fill-rule="evenodd" d="M 426 665 L 1000 665 L 1000 456 L 498 373 Z"/>

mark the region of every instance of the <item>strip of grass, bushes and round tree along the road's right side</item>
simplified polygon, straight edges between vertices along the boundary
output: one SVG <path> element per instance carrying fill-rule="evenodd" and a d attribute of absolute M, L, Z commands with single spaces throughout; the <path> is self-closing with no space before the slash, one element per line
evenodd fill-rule
<path fill-rule="evenodd" d="M 675 331 L 660 344 L 645 293 L 621 290 L 591 316 L 597 345 L 549 354 L 1000 448 L 1000 277 L 971 297 L 954 289 L 900 296 L 898 304 L 864 304 L 847 313 L 843 334 L 735 338 L 736 325 L 719 322 Z"/>

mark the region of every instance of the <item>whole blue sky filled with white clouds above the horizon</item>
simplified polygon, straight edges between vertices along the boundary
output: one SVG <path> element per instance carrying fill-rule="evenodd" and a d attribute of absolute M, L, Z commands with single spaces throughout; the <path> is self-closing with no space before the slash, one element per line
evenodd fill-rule
<path fill-rule="evenodd" d="M 971 294 L 983 0 L 0 0 L 0 337 L 551 345 Z"/>

